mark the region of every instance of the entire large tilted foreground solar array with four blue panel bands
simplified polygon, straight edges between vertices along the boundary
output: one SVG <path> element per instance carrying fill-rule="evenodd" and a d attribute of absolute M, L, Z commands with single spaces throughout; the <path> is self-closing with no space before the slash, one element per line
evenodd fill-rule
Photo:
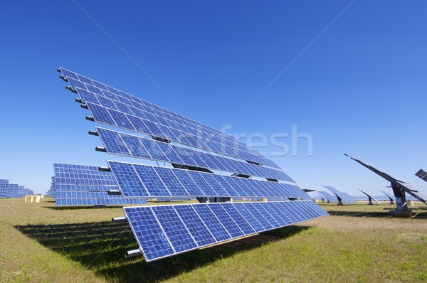
<path fill-rule="evenodd" d="M 108 170 L 125 198 L 292 200 L 124 208 L 145 260 L 327 215 L 273 161 L 228 134 L 101 82 L 59 70 L 70 83 L 68 88 L 79 95 L 76 101 L 92 113 L 88 119 L 152 138 L 96 127 L 97 132 L 90 133 L 98 135 L 105 147 L 98 151 L 165 162 L 152 166 L 108 161 Z"/>

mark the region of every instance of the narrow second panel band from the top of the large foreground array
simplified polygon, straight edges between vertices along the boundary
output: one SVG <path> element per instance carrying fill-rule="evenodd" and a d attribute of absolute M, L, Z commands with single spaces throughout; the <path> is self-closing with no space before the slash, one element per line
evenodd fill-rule
<path fill-rule="evenodd" d="M 294 182 L 285 172 L 270 169 L 265 166 L 249 164 L 246 161 L 229 159 L 202 151 L 184 148 L 182 146 L 176 146 L 174 144 L 159 142 L 154 139 L 146 139 L 131 134 L 112 131 L 110 129 L 102 129 L 100 127 L 96 127 L 96 129 L 109 154 L 166 161 L 205 169 L 215 169 Z"/>

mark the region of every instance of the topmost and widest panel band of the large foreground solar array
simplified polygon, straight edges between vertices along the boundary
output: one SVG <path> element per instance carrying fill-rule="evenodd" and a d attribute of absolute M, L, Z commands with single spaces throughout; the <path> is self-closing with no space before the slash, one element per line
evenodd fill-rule
<path fill-rule="evenodd" d="M 60 68 L 95 121 L 279 168 L 246 144 L 192 119 Z"/>

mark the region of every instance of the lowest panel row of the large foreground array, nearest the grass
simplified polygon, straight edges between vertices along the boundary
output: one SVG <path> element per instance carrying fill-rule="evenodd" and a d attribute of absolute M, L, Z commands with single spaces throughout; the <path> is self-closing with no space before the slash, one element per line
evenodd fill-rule
<path fill-rule="evenodd" d="M 147 262 L 327 215 L 313 201 L 198 203 L 123 210 Z"/>

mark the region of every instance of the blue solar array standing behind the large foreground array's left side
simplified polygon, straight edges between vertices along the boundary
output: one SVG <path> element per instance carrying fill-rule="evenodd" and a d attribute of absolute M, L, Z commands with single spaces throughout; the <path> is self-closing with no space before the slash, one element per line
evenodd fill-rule
<path fill-rule="evenodd" d="M 123 198 L 109 195 L 117 190 L 110 172 L 99 171 L 95 166 L 53 164 L 54 195 L 57 205 L 127 205 L 147 203 L 145 199 Z"/>

